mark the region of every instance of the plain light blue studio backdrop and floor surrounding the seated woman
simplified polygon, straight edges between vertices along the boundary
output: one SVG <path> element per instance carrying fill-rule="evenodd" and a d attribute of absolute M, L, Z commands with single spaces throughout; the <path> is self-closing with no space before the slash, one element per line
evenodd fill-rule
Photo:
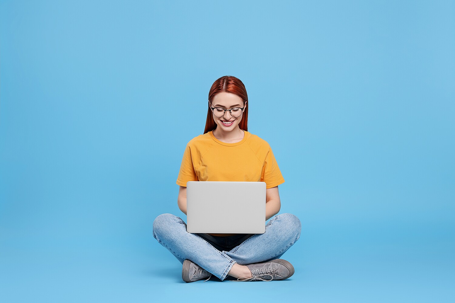
<path fill-rule="evenodd" d="M 0 301 L 454 302 L 453 1 L 1 1 Z M 285 281 L 152 237 L 212 83 L 302 221 Z M 260 249 L 260 248 L 258 248 Z M 450 287 L 452 287 L 450 289 Z"/>

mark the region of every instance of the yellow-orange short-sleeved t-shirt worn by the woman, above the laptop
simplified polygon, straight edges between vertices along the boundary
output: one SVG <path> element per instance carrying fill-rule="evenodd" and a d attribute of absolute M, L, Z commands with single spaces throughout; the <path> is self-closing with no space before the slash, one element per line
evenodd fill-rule
<path fill-rule="evenodd" d="M 265 182 L 269 189 L 284 179 L 264 139 L 245 131 L 241 141 L 225 143 L 209 131 L 187 143 L 177 184 L 187 186 L 188 181 Z"/>

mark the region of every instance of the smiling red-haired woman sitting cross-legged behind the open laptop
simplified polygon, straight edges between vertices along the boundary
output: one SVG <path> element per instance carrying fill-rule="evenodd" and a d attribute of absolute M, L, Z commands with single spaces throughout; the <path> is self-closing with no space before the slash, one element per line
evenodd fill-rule
<path fill-rule="evenodd" d="M 178 207 L 187 214 L 187 181 L 261 181 L 266 183 L 265 220 L 272 219 L 265 233 L 208 234 L 188 233 L 181 218 L 159 215 L 153 237 L 183 264 L 185 282 L 208 280 L 212 274 L 221 280 L 229 275 L 237 278 L 232 281 L 271 281 L 294 273 L 292 264 L 280 257 L 300 238 L 300 220 L 278 214 L 283 176 L 270 145 L 249 133 L 247 122 L 248 95 L 242 81 L 233 76 L 217 79 L 208 94 L 204 134 L 190 140 L 183 154 Z M 217 198 L 235 196 L 223 193 Z"/>

